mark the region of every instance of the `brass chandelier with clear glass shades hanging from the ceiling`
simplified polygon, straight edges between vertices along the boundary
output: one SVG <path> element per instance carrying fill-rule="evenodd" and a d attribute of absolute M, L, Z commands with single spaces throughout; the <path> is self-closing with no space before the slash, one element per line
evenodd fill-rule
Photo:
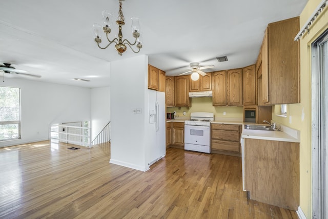
<path fill-rule="evenodd" d="M 118 0 L 119 2 L 119 9 L 118 9 L 118 17 L 117 17 L 117 21 L 116 24 L 118 25 L 118 38 L 115 37 L 113 40 L 109 39 L 108 34 L 111 32 L 111 28 L 113 27 L 112 24 L 112 14 L 108 11 L 103 11 L 103 21 L 104 21 L 104 27 L 103 27 L 103 31 L 104 33 L 106 33 L 106 38 L 108 40 L 108 45 L 105 47 L 101 47 L 99 44 L 101 43 L 101 35 L 100 35 L 100 31 L 101 31 L 101 25 L 99 24 L 94 24 L 93 28 L 94 28 L 94 41 L 96 42 L 96 44 L 98 45 L 98 47 L 100 49 L 106 49 L 107 47 L 109 47 L 112 43 L 115 43 L 115 49 L 118 52 L 119 55 L 122 55 L 122 53 L 124 53 L 127 50 L 127 45 L 131 48 L 131 50 L 134 53 L 138 53 L 140 51 L 140 49 L 142 48 L 142 38 L 140 35 L 140 24 L 139 24 L 139 18 L 138 17 L 132 17 L 132 25 L 131 25 L 131 29 L 132 29 L 132 36 L 135 38 L 134 43 L 130 43 L 128 41 L 128 39 L 123 39 L 123 35 L 122 35 L 122 26 L 125 25 L 124 22 L 124 15 L 123 15 L 123 11 L 122 11 L 122 1 L 124 0 Z M 132 46 L 136 45 L 137 50 L 134 51 Z"/>

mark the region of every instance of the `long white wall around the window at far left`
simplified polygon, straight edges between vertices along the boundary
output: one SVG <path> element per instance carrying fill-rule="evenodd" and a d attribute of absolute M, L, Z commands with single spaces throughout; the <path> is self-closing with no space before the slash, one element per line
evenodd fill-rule
<path fill-rule="evenodd" d="M 13 77 L 6 78 L 1 86 L 20 88 L 22 138 L 0 142 L 0 147 L 48 140 L 51 123 L 91 120 L 90 88 Z"/>

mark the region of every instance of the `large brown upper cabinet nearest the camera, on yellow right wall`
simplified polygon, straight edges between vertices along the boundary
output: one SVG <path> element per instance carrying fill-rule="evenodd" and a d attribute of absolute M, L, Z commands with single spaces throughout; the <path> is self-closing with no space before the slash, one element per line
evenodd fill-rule
<path fill-rule="evenodd" d="M 258 72 L 259 105 L 300 103 L 299 17 L 268 25 Z M 260 73 L 260 74 L 259 74 Z"/>

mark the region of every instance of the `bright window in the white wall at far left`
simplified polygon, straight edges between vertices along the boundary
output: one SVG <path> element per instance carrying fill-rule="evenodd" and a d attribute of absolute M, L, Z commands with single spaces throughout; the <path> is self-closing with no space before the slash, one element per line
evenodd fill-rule
<path fill-rule="evenodd" d="M 20 138 L 20 89 L 0 87 L 0 141 Z"/>

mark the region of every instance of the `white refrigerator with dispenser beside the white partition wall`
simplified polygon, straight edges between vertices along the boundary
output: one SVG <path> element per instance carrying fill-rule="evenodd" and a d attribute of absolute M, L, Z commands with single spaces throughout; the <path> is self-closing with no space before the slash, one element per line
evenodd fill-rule
<path fill-rule="evenodd" d="M 165 92 L 148 90 L 148 107 L 146 138 L 148 139 L 148 165 L 150 166 L 166 154 Z"/>

